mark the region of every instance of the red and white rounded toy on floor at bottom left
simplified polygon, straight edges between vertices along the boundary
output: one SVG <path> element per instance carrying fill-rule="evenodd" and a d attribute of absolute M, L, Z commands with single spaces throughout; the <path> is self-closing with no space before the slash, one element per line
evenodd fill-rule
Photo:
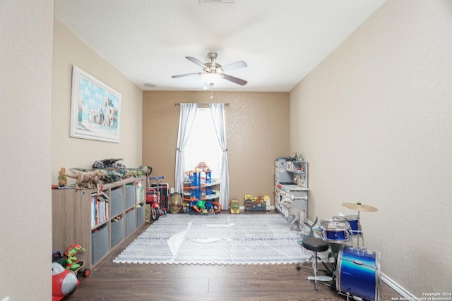
<path fill-rule="evenodd" d="M 59 301 L 73 293 L 78 283 L 76 274 L 64 269 L 58 262 L 52 262 L 52 301 Z"/>

